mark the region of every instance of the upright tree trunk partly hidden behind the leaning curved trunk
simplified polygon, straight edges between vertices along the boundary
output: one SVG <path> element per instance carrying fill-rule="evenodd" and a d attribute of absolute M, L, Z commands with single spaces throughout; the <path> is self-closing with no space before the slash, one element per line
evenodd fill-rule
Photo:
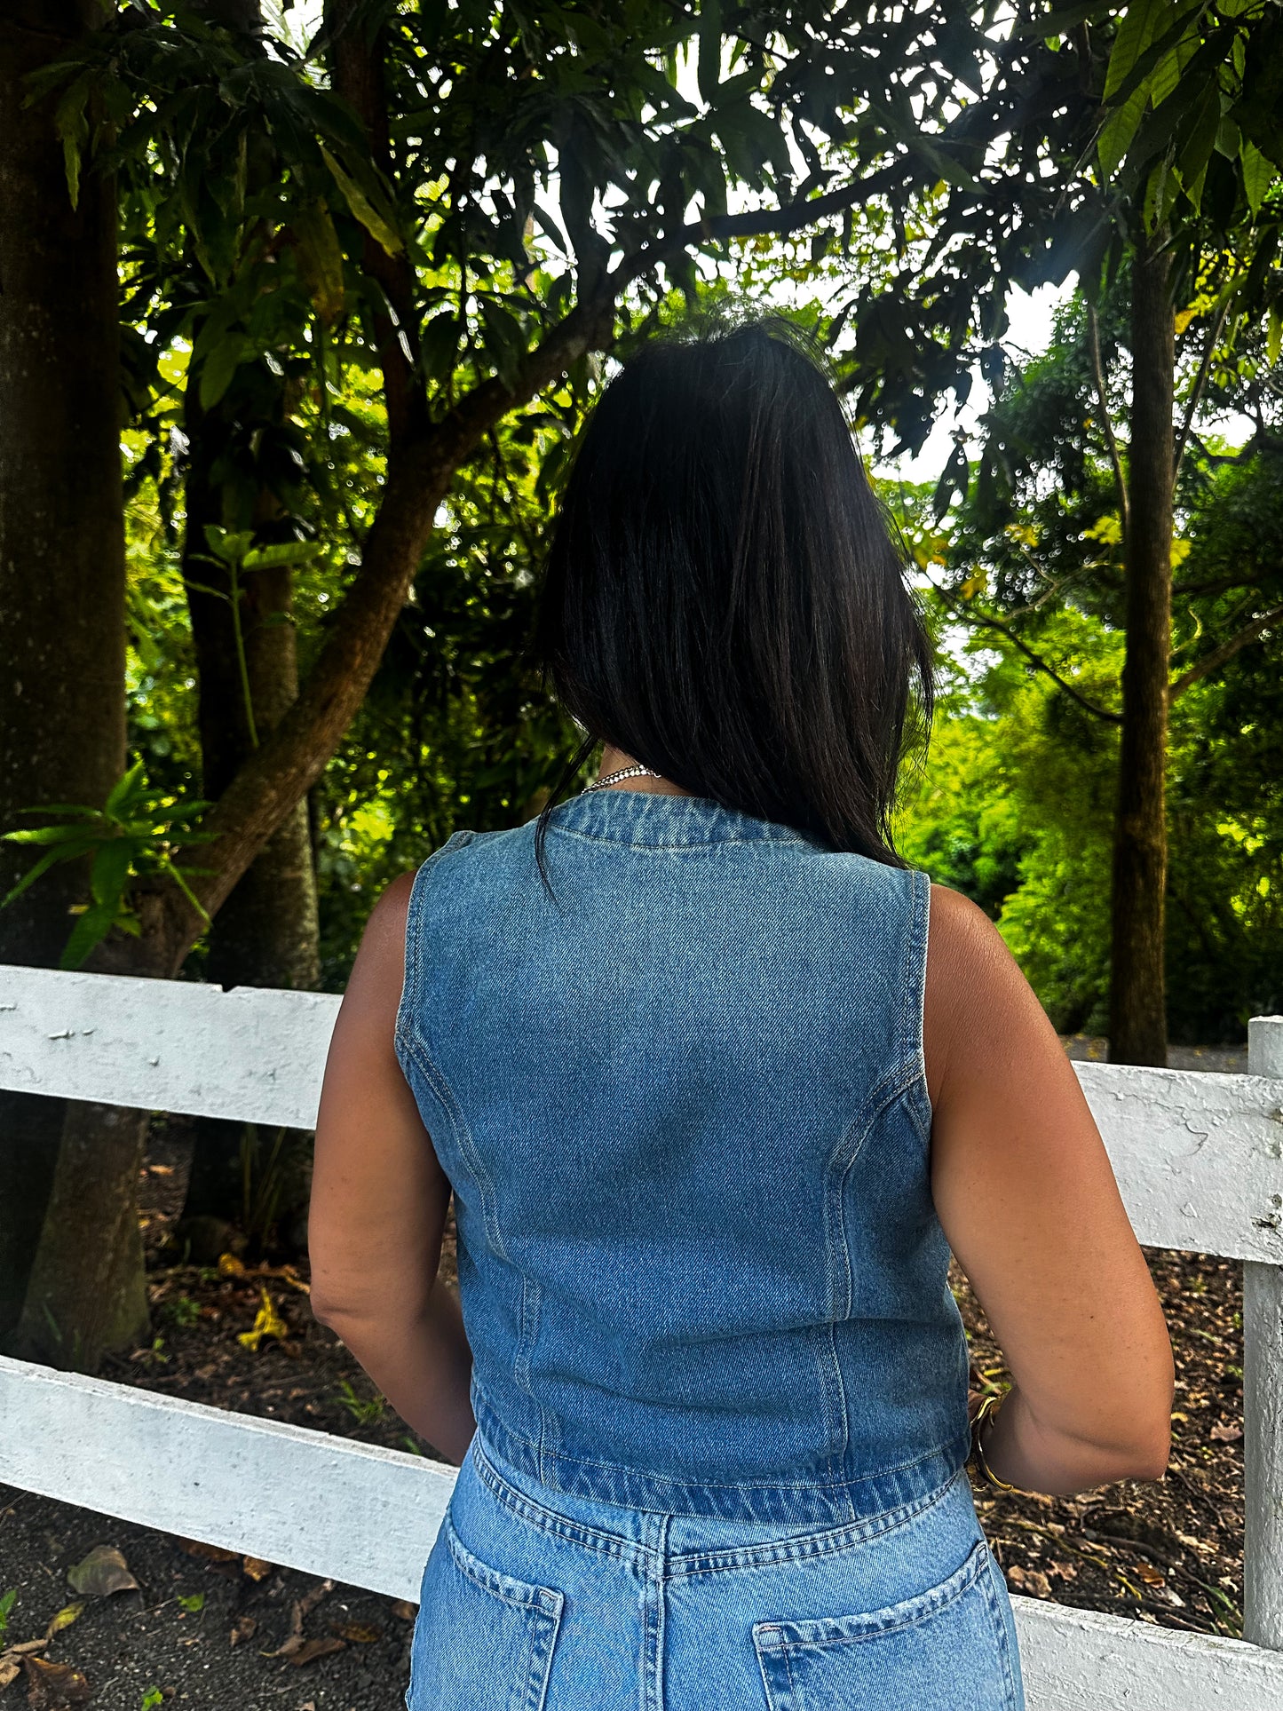
<path fill-rule="evenodd" d="M 253 724 L 248 717 L 245 679 L 236 648 L 231 613 L 231 578 L 226 568 L 207 559 L 205 525 L 263 527 L 275 520 L 270 494 L 258 498 L 255 515 L 234 515 L 236 496 L 221 491 L 210 472 L 234 465 L 228 457 L 229 438 L 248 438 L 246 424 L 234 414 L 234 402 L 209 414 L 188 395 L 188 443 L 192 462 L 186 476 L 186 542 L 183 573 L 188 583 L 192 636 L 200 679 L 200 751 L 204 794 L 217 799 L 253 753 L 255 737 L 272 732 L 298 698 L 298 654 L 289 621 L 293 580 L 287 566 L 257 570 L 243 578 L 239 618 L 245 647 L 245 678 L 250 688 Z M 217 589 L 216 594 L 202 589 Z M 209 934 L 205 974 L 219 986 L 277 986 L 311 991 L 320 982 L 320 927 L 316 921 L 316 874 L 311 862 L 311 832 L 306 797 L 299 799 L 272 833 L 228 902 L 214 917 Z M 245 1205 L 243 1150 L 262 1158 L 257 1136 L 243 1122 L 204 1117 L 195 1129 L 192 1177 L 186 1189 L 186 1218 L 219 1218 L 250 1223 Z M 310 1136 L 291 1131 L 279 1152 L 281 1218 L 296 1218 L 308 1187 Z M 253 1184 L 255 1187 L 262 1184 Z M 262 1199 L 260 1199 L 262 1205 Z M 258 1240 L 267 1232 L 246 1228 Z"/>

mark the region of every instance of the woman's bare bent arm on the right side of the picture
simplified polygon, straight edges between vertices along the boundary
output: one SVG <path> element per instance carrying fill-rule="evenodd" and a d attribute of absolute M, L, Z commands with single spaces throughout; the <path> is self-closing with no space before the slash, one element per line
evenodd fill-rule
<path fill-rule="evenodd" d="M 1069 1494 L 1162 1478 L 1172 1345 L 1073 1064 L 989 917 L 931 888 L 931 1184 L 1014 1379 L 985 1459 Z"/>

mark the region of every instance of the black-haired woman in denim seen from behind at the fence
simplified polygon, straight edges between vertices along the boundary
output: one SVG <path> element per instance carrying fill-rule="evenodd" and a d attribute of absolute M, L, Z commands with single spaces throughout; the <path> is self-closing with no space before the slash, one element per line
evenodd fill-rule
<path fill-rule="evenodd" d="M 462 1463 L 407 1706 L 1018 1708 L 968 1456 L 1160 1478 L 1170 1345 L 1033 992 L 891 849 L 931 655 L 785 329 L 611 383 L 537 647 L 600 775 L 388 888 L 316 1129 L 316 1317 Z"/>

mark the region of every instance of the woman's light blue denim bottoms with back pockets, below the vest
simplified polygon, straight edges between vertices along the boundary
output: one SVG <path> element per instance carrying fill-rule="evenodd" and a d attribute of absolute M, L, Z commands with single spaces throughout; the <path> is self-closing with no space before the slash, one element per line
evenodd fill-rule
<path fill-rule="evenodd" d="M 409 1711 L 1023 1711 L 965 1473 L 806 1530 L 566 1497 L 472 1439 Z"/>

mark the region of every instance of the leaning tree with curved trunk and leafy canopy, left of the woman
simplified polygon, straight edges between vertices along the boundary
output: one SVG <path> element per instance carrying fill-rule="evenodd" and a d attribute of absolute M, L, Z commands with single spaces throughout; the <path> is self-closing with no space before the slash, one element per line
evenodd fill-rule
<path fill-rule="evenodd" d="M 359 565 L 298 698 L 205 816 L 188 861 L 205 871 L 186 891 L 173 867 L 135 874 L 137 936 L 113 936 L 101 956 L 137 974 L 178 972 L 320 779 L 438 508 L 501 423 L 525 421 L 565 455 L 566 424 L 542 409 L 544 394 L 568 382 L 583 399 L 594 352 L 643 337 L 672 284 L 695 289 L 696 258 L 840 222 L 879 195 L 903 207 L 955 171 L 949 89 L 958 72 L 980 77 L 990 10 L 958 21 L 948 7 L 874 5 L 848 31 L 790 7 L 532 15 L 334 0 L 308 60 L 281 39 L 246 51 L 236 27 L 185 9 L 132 5 L 62 56 L 46 87 L 63 91 L 72 151 L 75 116 L 96 94 L 118 139 L 96 128 L 99 157 L 147 210 L 152 358 L 183 325 L 195 330 L 192 305 L 174 313 L 168 296 L 174 252 L 190 245 L 209 277 L 190 356 L 205 407 L 243 366 L 270 371 L 282 366 L 277 349 L 306 347 L 320 423 L 335 364 L 364 363 L 378 371 L 387 424 L 383 493 Z M 231 22 L 241 19 L 243 9 Z M 689 48 L 698 101 L 677 89 Z M 837 140 L 842 168 L 819 152 Z M 977 145 L 968 118 L 967 147 Z M 270 171 L 251 180 L 248 159 L 262 149 Z M 729 185 L 756 205 L 729 214 Z M 313 313 L 282 334 L 274 317 L 299 287 Z M 145 364 L 145 352 L 133 356 Z M 101 1317 L 87 1295 L 109 1270 L 101 1240 L 77 1227 L 68 1246 L 67 1232 L 74 1206 L 118 1189 L 92 1153 L 72 1162 L 65 1152 L 22 1321 L 27 1350 L 50 1352 L 50 1317 L 77 1328 Z M 84 1335 L 80 1362 L 92 1365 L 99 1347 Z"/>

